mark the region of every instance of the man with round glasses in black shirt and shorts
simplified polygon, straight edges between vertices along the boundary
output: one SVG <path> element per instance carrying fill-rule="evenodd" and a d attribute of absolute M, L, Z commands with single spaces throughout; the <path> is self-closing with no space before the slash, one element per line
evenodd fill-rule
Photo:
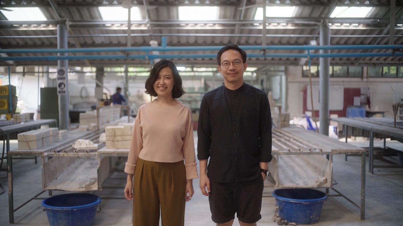
<path fill-rule="evenodd" d="M 231 226 L 237 213 L 241 226 L 253 226 L 262 218 L 263 182 L 272 160 L 270 106 L 262 90 L 243 82 L 243 49 L 224 46 L 217 63 L 224 85 L 207 92 L 200 105 L 200 189 L 217 225 Z"/>

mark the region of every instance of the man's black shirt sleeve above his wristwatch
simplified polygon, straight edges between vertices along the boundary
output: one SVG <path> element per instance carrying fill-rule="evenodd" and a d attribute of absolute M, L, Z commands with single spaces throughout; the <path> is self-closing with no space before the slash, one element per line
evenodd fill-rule
<path fill-rule="evenodd" d="M 260 162 L 272 160 L 272 116 L 266 95 L 260 97 L 259 120 Z"/>

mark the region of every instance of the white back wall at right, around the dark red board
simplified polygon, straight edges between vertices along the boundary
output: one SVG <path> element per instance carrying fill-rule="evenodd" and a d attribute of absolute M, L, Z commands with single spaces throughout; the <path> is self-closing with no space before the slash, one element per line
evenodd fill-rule
<path fill-rule="evenodd" d="M 330 85 L 342 85 L 344 88 L 370 89 L 371 110 L 376 107 L 385 113 L 385 117 L 393 117 L 393 90 L 403 93 L 403 78 L 367 78 L 367 69 L 363 70 L 364 78 L 330 78 Z M 303 89 L 309 85 L 309 78 L 302 77 L 301 66 L 288 66 L 288 111 L 291 117 L 303 114 Z M 313 85 L 319 85 L 319 78 L 312 78 Z M 392 88 L 391 88 L 392 87 Z M 309 97 L 309 95 L 307 95 Z"/>

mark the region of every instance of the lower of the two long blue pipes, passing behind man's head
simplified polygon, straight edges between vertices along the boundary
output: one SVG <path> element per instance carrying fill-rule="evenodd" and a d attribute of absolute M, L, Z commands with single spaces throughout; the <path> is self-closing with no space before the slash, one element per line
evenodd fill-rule
<path fill-rule="evenodd" d="M 403 56 L 403 53 L 273 53 L 261 54 L 251 53 L 248 54 L 249 58 L 342 58 L 342 57 L 394 57 Z M 30 61 L 30 60 L 43 60 L 43 61 L 56 61 L 56 60 L 154 60 L 157 58 L 162 59 L 192 59 L 192 58 L 216 58 L 216 54 L 168 54 L 168 55 L 78 55 L 78 56 L 28 56 L 28 57 L 0 57 L 0 61 Z"/>

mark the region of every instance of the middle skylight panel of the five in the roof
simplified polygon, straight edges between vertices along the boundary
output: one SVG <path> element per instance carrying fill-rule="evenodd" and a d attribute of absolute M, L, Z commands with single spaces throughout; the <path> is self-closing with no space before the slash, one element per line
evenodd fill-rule
<path fill-rule="evenodd" d="M 218 18 L 218 6 L 179 6 L 181 21 L 214 21 Z"/>

